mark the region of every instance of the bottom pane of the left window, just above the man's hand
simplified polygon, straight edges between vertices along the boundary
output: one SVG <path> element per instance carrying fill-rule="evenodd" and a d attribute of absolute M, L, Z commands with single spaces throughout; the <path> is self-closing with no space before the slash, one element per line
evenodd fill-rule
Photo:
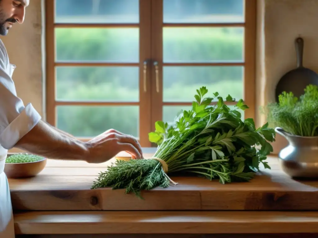
<path fill-rule="evenodd" d="M 73 136 L 93 137 L 108 129 L 139 136 L 138 106 L 58 106 L 57 127 Z"/>

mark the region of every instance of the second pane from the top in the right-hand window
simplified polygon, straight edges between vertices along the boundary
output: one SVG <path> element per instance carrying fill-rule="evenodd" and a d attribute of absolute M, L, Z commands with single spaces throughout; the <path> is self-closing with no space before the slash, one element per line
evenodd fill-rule
<path fill-rule="evenodd" d="M 163 61 L 243 61 L 243 27 L 164 27 Z"/>

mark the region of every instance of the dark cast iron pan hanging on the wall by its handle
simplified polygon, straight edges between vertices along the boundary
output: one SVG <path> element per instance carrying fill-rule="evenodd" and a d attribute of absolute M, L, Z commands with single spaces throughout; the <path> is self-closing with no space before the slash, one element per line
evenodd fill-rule
<path fill-rule="evenodd" d="M 304 94 L 304 89 L 308 84 L 318 85 L 318 75 L 311 69 L 307 69 L 302 65 L 302 54 L 304 48 L 304 40 L 297 38 L 295 40 L 297 68 L 287 72 L 278 82 L 276 86 L 276 101 L 278 96 L 286 91 L 292 92 L 294 96 L 300 97 Z"/>

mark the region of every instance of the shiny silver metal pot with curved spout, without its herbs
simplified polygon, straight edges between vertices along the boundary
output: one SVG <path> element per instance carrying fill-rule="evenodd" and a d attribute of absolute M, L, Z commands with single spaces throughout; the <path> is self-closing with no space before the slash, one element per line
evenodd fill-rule
<path fill-rule="evenodd" d="M 280 127 L 275 131 L 289 143 L 278 154 L 282 170 L 291 177 L 318 178 L 318 136 L 294 136 Z"/>

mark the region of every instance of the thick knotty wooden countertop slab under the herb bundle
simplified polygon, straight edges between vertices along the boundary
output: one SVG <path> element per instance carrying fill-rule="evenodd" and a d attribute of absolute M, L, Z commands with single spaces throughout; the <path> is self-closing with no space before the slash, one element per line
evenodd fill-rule
<path fill-rule="evenodd" d="M 156 148 L 145 148 L 151 157 Z M 143 192 L 144 200 L 124 190 L 90 189 L 111 162 L 48 160 L 36 177 L 9 179 L 14 210 L 318 210 L 318 182 L 300 182 L 280 170 L 269 157 L 251 182 L 220 184 L 204 178 L 173 177 L 169 188 Z"/>

